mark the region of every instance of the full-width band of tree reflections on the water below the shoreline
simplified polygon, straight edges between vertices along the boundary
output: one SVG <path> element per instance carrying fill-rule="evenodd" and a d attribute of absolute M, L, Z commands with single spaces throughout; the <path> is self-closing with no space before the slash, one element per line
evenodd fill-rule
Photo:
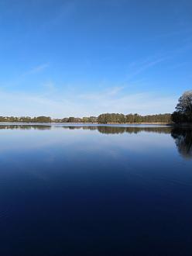
<path fill-rule="evenodd" d="M 103 125 L 58 125 L 50 124 L 9 124 L 0 125 L 0 130 L 51 130 L 52 128 L 62 128 L 67 130 L 97 130 L 103 134 L 122 133 L 163 133 L 173 137 L 177 150 L 184 158 L 192 158 L 192 130 L 172 126 L 103 126 Z"/>

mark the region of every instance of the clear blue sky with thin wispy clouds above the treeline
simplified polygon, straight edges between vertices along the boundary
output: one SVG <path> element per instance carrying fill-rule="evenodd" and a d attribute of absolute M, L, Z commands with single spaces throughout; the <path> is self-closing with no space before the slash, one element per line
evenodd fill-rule
<path fill-rule="evenodd" d="M 173 112 L 191 0 L 0 0 L 0 116 Z"/>

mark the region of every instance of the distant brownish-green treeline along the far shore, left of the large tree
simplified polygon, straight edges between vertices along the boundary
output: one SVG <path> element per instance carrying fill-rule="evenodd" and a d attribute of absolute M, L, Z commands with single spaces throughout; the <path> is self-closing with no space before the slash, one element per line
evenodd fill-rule
<path fill-rule="evenodd" d="M 171 114 L 147 115 L 140 116 L 139 114 L 118 114 L 105 113 L 97 116 L 89 117 L 65 117 L 63 119 L 51 119 L 49 116 L 37 117 L 14 117 L 0 116 L 0 122 L 9 123 L 171 123 Z"/>

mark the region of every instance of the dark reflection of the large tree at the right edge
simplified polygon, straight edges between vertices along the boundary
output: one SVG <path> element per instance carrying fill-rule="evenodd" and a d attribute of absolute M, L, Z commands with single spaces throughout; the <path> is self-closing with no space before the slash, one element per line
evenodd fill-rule
<path fill-rule="evenodd" d="M 192 130 L 173 128 L 171 136 L 180 154 L 185 158 L 192 158 Z"/>

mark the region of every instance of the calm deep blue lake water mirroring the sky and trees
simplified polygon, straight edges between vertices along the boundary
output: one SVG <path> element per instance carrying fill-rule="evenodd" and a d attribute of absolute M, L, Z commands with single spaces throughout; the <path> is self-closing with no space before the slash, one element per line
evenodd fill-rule
<path fill-rule="evenodd" d="M 191 255 L 192 130 L 0 126 L 0 255 Z"/>

